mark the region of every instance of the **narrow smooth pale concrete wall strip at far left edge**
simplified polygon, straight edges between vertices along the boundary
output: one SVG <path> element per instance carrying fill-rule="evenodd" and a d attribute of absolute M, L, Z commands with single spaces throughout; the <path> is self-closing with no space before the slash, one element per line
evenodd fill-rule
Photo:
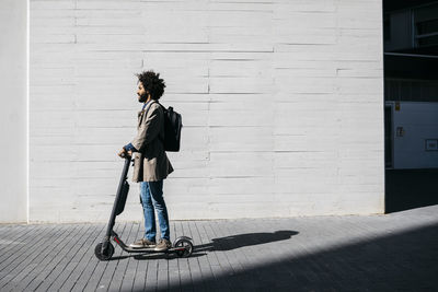
<path fill-rule="evenodd" d="M 27 1 L 0 1 L 0 222 L 27 221 Z"/>

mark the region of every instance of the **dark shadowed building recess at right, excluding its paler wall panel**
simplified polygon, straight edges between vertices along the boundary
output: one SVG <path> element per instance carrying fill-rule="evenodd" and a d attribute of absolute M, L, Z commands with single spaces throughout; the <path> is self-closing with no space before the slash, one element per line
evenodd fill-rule
<path fill-rule="evenodd" d="M 438 103 L 437 24 L 437 1 L 383 0 L 385 213 L 438 205 L 438 167 L 394 167 L 396 125 L 387 103 Z"/>

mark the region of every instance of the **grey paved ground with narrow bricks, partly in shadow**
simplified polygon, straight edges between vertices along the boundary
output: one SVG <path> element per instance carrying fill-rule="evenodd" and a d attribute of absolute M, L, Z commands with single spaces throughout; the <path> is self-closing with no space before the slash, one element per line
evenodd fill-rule
<path fill-rule="evenodd" d="M 191 258 L 99 261 L 104 224 L 0 225 L 1 291 L 438 291 L 438 206 L 388 215 L 174 221 Z M 131 242 L 141 223 L 116 231 Z"/>

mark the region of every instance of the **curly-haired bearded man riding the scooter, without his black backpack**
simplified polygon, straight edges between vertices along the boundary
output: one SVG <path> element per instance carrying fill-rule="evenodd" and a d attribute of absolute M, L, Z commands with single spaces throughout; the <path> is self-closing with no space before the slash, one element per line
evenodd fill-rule
<path fill-rule="evenodd" d="M 138 113 L 138 133 L 118 153 L 134 159 L 132 182 L 140 183 L 140 198 L 145 214 L 145 236 L 130 244 L 132 248 L 154 247 L 157 252 L 166 250 L 170 242 L 169 215 L 163 198 L 163 179 L 173 172 L 164 151 L 164 113 L 158 100 L 164 93 L 164 81 L 160 73 L 143 71 L 138 77 L 138 101 L 143 103 Z M 160 224 L 161 241 L 155 244 L 155 212 Z"/>

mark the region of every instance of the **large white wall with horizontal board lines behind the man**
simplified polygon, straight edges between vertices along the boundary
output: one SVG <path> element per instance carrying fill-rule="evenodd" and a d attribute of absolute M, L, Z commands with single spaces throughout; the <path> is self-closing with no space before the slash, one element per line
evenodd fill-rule
<path fill-rule="evenodd" d="M 30 220 L 106 221 L 134 73 L 183 116 L 170 219 L 381 213 L 381 0 L 31 0 Z M 140 220 L 138 185 L 122 220 Z"/>

